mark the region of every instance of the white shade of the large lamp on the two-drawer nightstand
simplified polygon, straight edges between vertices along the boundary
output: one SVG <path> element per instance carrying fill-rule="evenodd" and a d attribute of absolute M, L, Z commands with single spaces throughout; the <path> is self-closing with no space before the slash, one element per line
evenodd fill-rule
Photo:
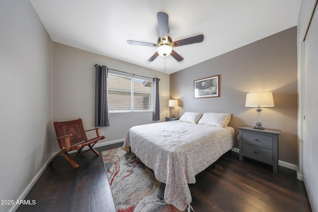
<path fill-rule="evenodd" d="M 273 94 L 271 91 L 248 93 L 246 94 L 245 106 L 274 106 Z"/>

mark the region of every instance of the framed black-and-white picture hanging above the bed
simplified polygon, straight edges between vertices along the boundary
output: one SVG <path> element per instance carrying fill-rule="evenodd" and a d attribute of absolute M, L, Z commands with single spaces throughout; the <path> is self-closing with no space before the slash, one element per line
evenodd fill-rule
<path fill-rule="evenodd" d="M 220 97 L 220 75 L 194 80 L 194 98 Z"/>

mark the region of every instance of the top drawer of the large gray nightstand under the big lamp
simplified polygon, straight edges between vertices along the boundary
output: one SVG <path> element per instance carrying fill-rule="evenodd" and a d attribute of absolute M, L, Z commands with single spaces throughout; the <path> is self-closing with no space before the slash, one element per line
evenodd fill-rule
<path fill-rule="evenodd" d="M 273 136 L 261 135 L 251 132 L 242 132 L 242 142 L 260 147 L 273 148 Z"/>

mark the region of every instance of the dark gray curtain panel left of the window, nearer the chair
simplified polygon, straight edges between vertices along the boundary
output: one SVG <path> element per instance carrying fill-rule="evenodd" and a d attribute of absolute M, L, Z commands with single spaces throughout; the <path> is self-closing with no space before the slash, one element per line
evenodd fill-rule
<path fill-rule="evenodd" d="M 95 80 L 95 127 L 108 127 L 107 66 L 96 67 Z"/>

